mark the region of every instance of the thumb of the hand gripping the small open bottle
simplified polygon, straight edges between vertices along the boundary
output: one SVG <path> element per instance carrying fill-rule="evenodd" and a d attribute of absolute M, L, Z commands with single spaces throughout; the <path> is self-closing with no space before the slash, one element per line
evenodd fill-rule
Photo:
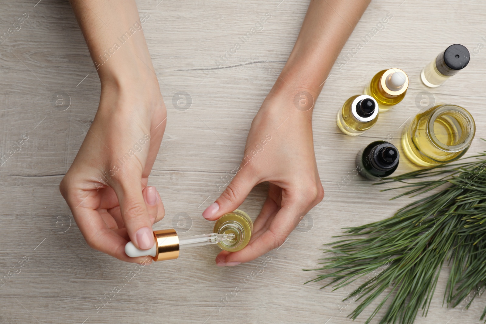
<path fill-rule="evenodd" d="M 208 221 L 215 221 L 237 209 L 256 185 L 257 180 L 250 172 L 237 172 L 221 196 L 203 211 L 203 217 Z"/>

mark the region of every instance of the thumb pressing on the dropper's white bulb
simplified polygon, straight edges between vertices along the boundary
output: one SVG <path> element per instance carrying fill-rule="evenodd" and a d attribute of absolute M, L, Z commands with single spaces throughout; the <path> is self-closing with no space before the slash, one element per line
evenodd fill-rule
<path fill-rule="evenodd" d="M 141 250 L 152 248 L 154 232 L 140 180 L 136 176 L 125 176 L 114 186 L 114 190 L 120 203 L 121 218 L 133 244 Z"/>

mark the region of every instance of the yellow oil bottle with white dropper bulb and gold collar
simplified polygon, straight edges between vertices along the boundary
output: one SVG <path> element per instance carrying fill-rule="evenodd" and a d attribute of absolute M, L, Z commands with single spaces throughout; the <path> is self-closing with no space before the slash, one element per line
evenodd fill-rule
<path fill-rule="evenodd" d="M 364 94 L 376 99 L 382 113 L 402 101 L 407 88 L 407 74 L 399 68 L 390 68 L 376 73 L 369 85 L 364 88 Z"/>

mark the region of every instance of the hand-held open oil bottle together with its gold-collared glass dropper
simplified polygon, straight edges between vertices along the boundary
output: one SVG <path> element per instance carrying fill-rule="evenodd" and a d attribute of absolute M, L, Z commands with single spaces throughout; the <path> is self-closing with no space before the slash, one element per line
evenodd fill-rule
<path fill-rule="evenodd" d="M 140 250 L 132 242 L 125 245 L 125 254 L 130 257 L 152 256 L 154 261 L 179 257 L 179 248 L 217 244 L 230 252 L 242 250 L 250 241 L 253 222 L 248 214 L 236 209 L 220 217 L 214 224 L 213 233 L 179 238 L 174 229 L 154 231 L 155 243 L 151 249 Z"/>

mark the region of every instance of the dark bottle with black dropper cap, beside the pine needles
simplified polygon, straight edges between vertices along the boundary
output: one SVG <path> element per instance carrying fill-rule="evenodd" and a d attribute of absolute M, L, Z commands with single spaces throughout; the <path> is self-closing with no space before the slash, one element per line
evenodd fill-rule
<path fill-rule="evenodd" d="M 374 141 L 356 155 L 356 170 L 364 178 L 379 180 L 397 170 L 399 158 L 395 145 L 383 140 Z"/>

